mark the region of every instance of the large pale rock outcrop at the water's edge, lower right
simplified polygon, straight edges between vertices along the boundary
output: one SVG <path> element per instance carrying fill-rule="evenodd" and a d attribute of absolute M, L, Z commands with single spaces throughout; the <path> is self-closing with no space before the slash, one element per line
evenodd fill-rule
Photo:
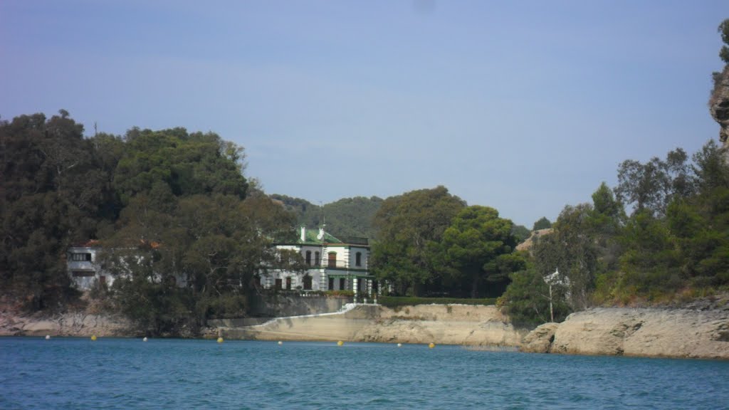
<path fill-rule="evenodd" d="M 729 309 L 596 308 L 533 330 L 522 350 L 579 355 L 729 359 Z M 533 346 L 533 347 L 531 347 Z"/>

